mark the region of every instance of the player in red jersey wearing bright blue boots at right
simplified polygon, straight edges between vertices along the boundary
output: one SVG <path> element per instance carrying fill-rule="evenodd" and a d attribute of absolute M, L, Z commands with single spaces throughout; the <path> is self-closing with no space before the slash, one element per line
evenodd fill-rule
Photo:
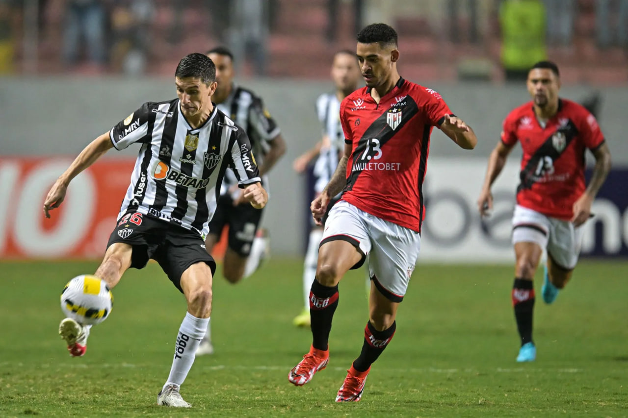
<path fill-rule="evenodd" d="M 553 303 L 578 261 L 582 225 L 610 170 L 610 152 L 595 117 L 582 105 L 558 96 L 560 74 L 553 62 L 538 62 L 528 74 L 532 102 L 512 110 L 504 120 L 501 141 L 490 154 L 478 206 L 484 216 L 492 208 L 490 186 L 506 158 L 521 143 L 521 183 L 512 219 L 516 265 L 512 304 L 521 348 L 517 362 L 532 362 L 534 272 L 547 251 L 543 301 Z M 585 151 L 595 168 L 585 186 Z"/>

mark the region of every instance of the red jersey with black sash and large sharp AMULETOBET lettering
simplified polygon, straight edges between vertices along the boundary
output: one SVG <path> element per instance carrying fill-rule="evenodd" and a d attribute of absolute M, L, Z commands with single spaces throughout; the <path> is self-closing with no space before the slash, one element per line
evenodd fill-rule
<path fill-rule="evenodd" d="M 451 112 L 440 94 L 403 78 L 379 104 L 368 87 L 347 96 L 340 104 L 340 122 L 353 151 L 342 199 L 421 232 L 425 218 L 421 185 L 430 134 L 447 114 Z"/>

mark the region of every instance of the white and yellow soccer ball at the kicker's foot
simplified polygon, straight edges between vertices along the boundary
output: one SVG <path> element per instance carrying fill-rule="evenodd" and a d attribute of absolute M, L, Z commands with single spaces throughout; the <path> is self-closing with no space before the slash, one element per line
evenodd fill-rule
<path fill-rule="evenodd" d="M 104 280 L 84 274 L 74 277 L 61 292 L 61 310 L 80 324 L 99 324 L 109 316 L 114 297 Z"/>

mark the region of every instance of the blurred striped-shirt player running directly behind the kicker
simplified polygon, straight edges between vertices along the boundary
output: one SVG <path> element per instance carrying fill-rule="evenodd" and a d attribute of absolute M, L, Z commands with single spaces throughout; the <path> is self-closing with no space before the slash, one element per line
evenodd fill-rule
<path fill-rule="evenodd" d="M 251 140 L 253 154 L 259 164 L 259 175 L 268 188 L 268 172 L 286 152 L 286 143 L 279 127 L 269 114 L 262 99 L 251 90 L 233 82 L 234 66 L 232 53 L 223 46 L 207 51 L 207 56 L 216 65 L 218 87 L 212 96 L 218 109 L 244 129 Z M 222 275 L 231 283 L 241 281 L 256 271 L 268 252 L 268 237 L 259 230 L 261 210 L 252 208 L 244 199 L 234 171 L 227 169 L 222 183 L 216 212 L 209 223 L 205 244 L 211 253 L 220 240 L 225 227 L 229 228 L 227 250 L 222 264 Z M 211 327 L 198 348 L 197 355 L 214 353 Z"/>

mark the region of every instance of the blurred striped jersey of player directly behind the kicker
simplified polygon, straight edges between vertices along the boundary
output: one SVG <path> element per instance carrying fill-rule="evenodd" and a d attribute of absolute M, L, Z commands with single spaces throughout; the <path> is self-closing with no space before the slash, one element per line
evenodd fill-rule
<path fill-rule="evenodd" d="M 241 126 L 246 131 L 251 145 L 253 154 L 257 158 L 257 163 L 262 164 L 264 156 L 268 153 L 270 147 L 269 141 L 272 141 L 279 135 L 279 127 L 271 117 L 270 113 L 264 107 L 262 99 L 248 90 L 238 85 L 232 85 L 231 94 L 224 102 L 218 105 L 218 109 L 228 115 L 232 121 Z M 225 173 L 225 180 L 222 183 L 220 194 L 228 193 L 229 188 L 237 184 L 237 178 L 230 169 Z M 268 190 L 268 177 L 263 176 L 264 188 Z"/>

